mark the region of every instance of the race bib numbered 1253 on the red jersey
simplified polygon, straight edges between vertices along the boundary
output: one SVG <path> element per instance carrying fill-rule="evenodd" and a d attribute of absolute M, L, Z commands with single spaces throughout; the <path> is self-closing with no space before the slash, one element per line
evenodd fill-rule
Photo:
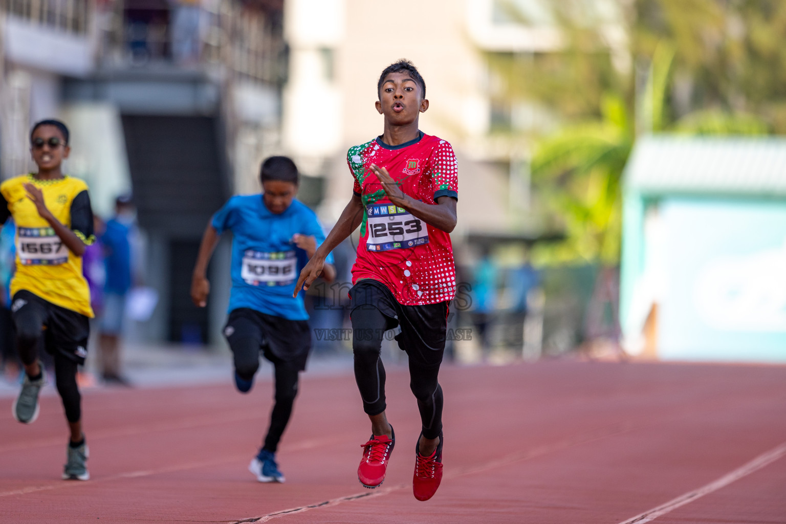
<path fill-rule="evenodd" d="M 374 203 L 365 207 L 369 235 L 367 251 L 388 251 L 428 244 L 428 229 L 420 218 L 391 203 Z"/>

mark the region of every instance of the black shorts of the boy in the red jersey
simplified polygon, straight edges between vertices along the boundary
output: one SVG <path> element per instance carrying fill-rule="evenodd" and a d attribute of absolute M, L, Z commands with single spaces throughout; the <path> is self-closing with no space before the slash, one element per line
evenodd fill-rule
<path fill-rule="evenodd" d="M 401 326 L 395 335 L 399 347 L 422 367 L 430 368 L 442 363 L 445 353 L 447 315 L 450 301 L 405 306 L 395 299 L 387 286 L 377 280 L 358 280 L 349 291 L 350 315 L 358 307 L 376 307 L 387 318 L 386 329 Z M 352 326 L 355 336 L 363 336 L 362 326 Z"/>

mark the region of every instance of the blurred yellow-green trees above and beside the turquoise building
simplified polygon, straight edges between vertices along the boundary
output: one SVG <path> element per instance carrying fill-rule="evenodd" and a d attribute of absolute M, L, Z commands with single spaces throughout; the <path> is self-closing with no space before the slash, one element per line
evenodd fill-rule
<path fill-rule="evenodd" d="M 489 57 L 498 97 L 535 101 L 563 123 L 537 141 L 531 170 L 566 240 L 537 247 L 535 262 L 618 262 L 621 176 L 637 131 L 786 133 L 783 0 L 619 2 L 630 68 L 615 66 L 620 49 L 599 43 L 604 25 L 577 2 L 548 5 L 564 49 Z"/>

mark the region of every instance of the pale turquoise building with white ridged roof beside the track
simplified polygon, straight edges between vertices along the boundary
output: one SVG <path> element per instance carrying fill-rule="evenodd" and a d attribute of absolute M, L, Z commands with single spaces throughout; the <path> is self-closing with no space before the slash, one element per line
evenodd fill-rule
<path fill-rule="evenodd" d="M 786 361 L 786 139 L 637 141 L 622 272 L 630 353 Z"/>

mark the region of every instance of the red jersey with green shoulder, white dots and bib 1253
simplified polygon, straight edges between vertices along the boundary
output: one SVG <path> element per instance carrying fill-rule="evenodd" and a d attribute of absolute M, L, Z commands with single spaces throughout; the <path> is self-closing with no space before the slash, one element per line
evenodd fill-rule
<path fill-rule="evenodd" d="M 458 169 L 450 144 L 422 131 L 395 146 L 377 137 L 350 148 L 347 163 L 364 205 L 352 283 L 378 280 L 405 306 L 453 299 L 456 268 L 450 235 L 391 203 L 371 170 L 372 163 L 385 167 L 403 192 L 425 203 L 435 204 L 440 196 L 457 199 Z"/>

